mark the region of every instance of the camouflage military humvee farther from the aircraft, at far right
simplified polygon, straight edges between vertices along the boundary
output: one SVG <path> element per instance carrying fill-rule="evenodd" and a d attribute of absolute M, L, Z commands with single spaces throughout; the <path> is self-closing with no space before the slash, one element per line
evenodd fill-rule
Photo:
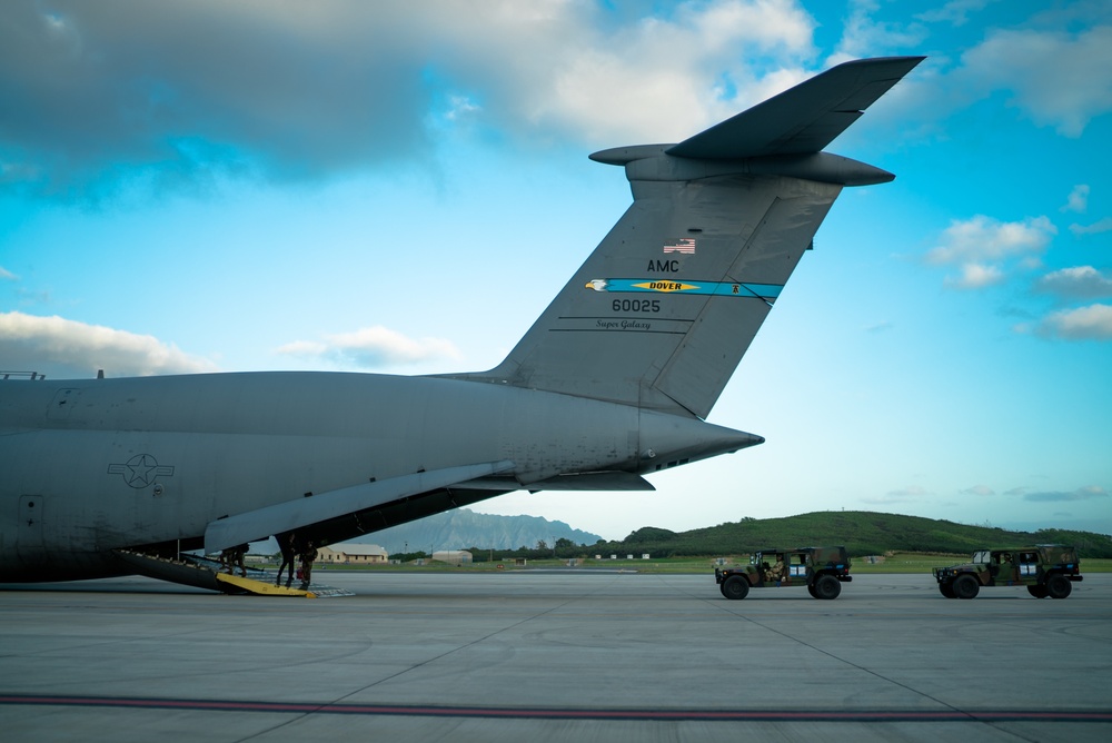
<path fill-rule="evenodd" d="M 982 586 L 1026 586 L 1035 598 L 1065 598 L 1082 579 L 1076 548 L 1061 544 L 979 549 L 970 562 L 933 573 L 946 598 L 973 598 Z"/>

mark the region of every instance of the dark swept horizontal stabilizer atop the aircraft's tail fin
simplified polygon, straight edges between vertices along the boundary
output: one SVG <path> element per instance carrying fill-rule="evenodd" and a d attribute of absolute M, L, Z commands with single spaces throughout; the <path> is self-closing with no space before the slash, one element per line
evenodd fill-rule
<path fill-rule="evenodd" d="M 924 59 L 838 65 L 665 151 L 707 160 L 820 152 Z"/>

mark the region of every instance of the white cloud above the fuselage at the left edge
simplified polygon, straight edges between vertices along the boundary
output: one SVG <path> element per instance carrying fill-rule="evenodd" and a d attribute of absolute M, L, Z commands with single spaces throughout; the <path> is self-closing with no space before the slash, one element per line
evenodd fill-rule
<path fill-rule="evenodd" d="M 6 370 L 49 376 L 85 377 L 98 369 L 110 377 L 217 370 L 211 361 L 151 336 L 23 313 L 0 313 L 0 358 Z"/>

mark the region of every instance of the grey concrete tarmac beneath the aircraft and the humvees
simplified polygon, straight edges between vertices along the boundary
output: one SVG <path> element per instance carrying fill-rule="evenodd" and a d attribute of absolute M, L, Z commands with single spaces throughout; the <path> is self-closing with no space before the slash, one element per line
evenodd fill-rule
<path fill-rule="evenodd" d="M 1109 741 L 1112 575 L 723 598 L 706 575 L 316 575 L 356 595 L 0 585 L 8 741 Z"/>

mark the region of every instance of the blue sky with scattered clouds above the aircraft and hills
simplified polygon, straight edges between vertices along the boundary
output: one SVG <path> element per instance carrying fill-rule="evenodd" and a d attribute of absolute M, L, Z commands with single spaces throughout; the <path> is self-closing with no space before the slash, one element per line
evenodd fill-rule
<path fill-rule="evenodd" d="M 926 55 L 655 493 L 476 507 L 620 538 L 868 509 L 1112 533 L 1106 2 L 0 8 L 0 368 L 495 366 L 631 201 L 587 159 Z"/>

